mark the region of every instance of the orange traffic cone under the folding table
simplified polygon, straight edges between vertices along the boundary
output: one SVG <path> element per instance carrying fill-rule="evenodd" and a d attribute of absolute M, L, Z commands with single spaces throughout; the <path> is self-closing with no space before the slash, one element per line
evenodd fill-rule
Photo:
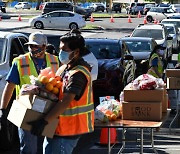
<path fill-rule="evenodd" d="M 117 143 L 116 128 L 110 128 L 110 143 Z M 108 128 L 101 129 L 100 144 L 108 144 Z"/>

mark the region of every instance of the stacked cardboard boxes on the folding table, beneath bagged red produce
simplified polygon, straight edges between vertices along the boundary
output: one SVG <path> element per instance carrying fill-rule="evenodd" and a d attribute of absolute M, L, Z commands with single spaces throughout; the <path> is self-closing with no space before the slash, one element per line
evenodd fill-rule
<path fill-rule="evenodd" d="M 160 121 L 167 112 L 168 95 L 165 88 L 155 90 L 124 89 L 122 104 L 124 120 Z"/>

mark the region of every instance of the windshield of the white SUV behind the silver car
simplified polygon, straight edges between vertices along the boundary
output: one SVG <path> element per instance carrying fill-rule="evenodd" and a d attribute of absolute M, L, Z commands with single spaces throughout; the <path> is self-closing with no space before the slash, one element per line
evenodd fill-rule
<path fill-rule="evenodd" d="M 137 29 L 134 31 L 133 37 L 150 37 L 161 40 L 163 39 L 163 31 L 159 29 Z"/>

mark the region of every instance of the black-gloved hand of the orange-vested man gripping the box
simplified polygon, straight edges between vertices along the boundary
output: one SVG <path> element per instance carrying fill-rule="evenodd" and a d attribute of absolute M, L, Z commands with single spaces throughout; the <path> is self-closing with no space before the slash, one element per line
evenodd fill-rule
<path fill-rule="evenodd" d="M 28 122 L 28 124 L 32 125 L 32 129 L 31 129 L 32 134 L 36 136 L 41 136 L 44 127 L 48 124 L 48 122 L 42 118 L 36 121 Z"/>

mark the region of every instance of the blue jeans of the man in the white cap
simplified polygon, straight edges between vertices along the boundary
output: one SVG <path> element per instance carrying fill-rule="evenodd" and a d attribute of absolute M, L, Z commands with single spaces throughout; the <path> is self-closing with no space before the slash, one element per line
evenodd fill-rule
<path fill-rule="evenodd" d="M 20 154 L 37 153 L 37 136 L 19 128 Z"/>

